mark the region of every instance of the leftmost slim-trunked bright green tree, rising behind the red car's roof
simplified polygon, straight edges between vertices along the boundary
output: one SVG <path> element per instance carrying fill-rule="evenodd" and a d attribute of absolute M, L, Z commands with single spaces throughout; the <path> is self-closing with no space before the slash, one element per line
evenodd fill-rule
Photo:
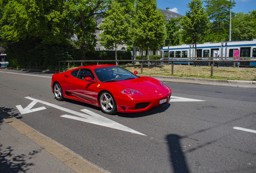
<path fill-rule="evenodd" d="M 107 49 L 114 46 L 115 52 L 117 51 L 117 44 L 126 44 L 129 40 L 130 15 L 125 13 L 124 10 L 125 7 L 114 0 L 111 3 L 110 9 L 106 11 L 105 21 L 99 27 L 104 30 L 100 34 L 101 45 Z"/>

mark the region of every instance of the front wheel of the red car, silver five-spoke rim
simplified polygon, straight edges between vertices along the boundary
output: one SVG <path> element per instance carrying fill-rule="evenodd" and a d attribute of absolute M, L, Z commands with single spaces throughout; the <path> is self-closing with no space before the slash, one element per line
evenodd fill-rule
<path fill-rule="evenodd" d="M 99 96 L 99 105 L 101 106 L 101 110 L 106 114 L 112 115 L 117 112 L 116 101 L 108 91 L 102 92 Z"/>

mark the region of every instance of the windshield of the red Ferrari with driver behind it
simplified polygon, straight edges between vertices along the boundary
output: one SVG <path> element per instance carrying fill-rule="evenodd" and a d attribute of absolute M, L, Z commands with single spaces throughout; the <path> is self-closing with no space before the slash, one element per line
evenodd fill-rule
<path fill-rule="evenodd" d="M 132 72 L 120 66 L 96 68 L 94 72 L 100 82 L 116 82 L 138 78 Z"/>

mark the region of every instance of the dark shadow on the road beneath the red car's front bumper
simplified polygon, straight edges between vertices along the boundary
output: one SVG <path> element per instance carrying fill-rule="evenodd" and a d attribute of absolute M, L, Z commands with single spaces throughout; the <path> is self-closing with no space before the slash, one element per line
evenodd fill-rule
<path fill-rule="evenodd" d="M 116 113 L 119 117 L 126 117 L 126 118 L 138 118 L 138 117 L 146 117 L 149 115 L 154 115 L 157 113 L 165 112 L 171 106 L 170 103 L 159 105 L 157 107 L 153 107 L 149 111 L 140 112 L 140 113 Z"/>

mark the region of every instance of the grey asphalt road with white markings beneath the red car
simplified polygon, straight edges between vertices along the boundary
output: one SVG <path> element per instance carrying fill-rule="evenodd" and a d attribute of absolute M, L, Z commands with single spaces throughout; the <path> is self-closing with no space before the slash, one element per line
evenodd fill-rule
<path fill-rule="evenodd" d="M 239 130 L 256 131 L 256 90 L 165 82 L 173 96 L 168 104 L 106 115 L 54 99 L 51 76 L 0 69 L 0 109 L 111 173 L 256 172 L 256 133 Z M 97 125 L 97 118 L 83 121 L 88 110 L 121 130 Z"/>

